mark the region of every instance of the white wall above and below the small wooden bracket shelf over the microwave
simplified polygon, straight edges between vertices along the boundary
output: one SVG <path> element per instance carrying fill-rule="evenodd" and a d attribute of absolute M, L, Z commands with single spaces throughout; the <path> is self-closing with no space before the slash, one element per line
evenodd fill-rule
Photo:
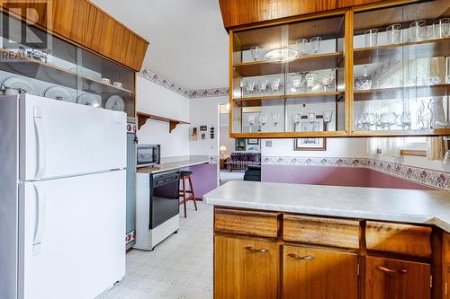
<path fill-rule="evenodd" d="M 171 119 L 189 121 L 190 100 L 165 87 L 136 76 L 137 110 Z M 161 156 L 189 155 L 189 125 L 178 125 L 172 133 L 166 122 L 148 120 L 138 131 L 139 144 L 161 145 Z"/>

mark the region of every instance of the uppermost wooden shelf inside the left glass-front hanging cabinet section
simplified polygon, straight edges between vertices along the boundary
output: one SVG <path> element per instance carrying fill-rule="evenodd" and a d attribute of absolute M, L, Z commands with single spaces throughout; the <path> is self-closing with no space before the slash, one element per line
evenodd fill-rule
<path fill-rule="evenodd" d="M 343 61 L 343 53 L 305 55 L 290 62 L 256 61 L 234 65 L 234 70 L 243 77 L 258 75 L 279 75 L 287 73 L 308 72 L 338 67 Z"/>

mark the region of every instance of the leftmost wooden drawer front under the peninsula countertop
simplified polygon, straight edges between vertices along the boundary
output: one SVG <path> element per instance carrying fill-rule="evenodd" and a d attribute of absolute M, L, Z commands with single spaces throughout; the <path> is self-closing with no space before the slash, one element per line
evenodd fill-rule
<path fill-rule="evenodd" d="M 276 213 L 270 212 L 215 208 L 214 231 L 276 238 L 278 218 Z"/>

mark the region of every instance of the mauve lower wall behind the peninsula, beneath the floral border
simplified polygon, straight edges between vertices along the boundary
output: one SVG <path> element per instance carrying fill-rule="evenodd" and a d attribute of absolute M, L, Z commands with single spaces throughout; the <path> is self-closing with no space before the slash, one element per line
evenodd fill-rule
<path fill-rule="evenodd" d="M 261 180 L 350 187 L 432 189 L 428 186 L 410 180 L 402 180 L 380 171 L 356 167 L 263 164 Z"/>

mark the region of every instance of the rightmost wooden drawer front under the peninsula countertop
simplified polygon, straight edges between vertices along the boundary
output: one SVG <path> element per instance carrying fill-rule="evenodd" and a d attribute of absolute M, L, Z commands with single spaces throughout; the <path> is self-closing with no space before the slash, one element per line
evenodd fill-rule
<path fill-rule="evenodd" d="M 431 257 L 431 227 L 367 221 L 365 242 L 369 251 Z"/>

